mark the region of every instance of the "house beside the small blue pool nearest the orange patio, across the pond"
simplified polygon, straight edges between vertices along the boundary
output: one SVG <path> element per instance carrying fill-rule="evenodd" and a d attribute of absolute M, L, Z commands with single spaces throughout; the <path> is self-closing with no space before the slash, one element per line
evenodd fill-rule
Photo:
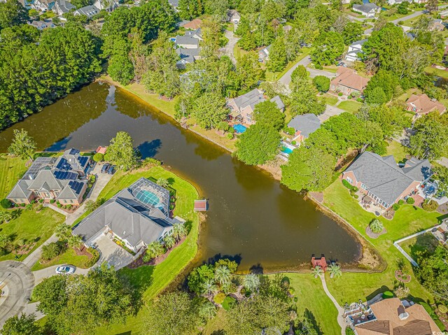
<path fill-rule="evenodd" d="M 245 124 L 254 124 L 253 111 L 255 106 L 266 100 L 263 92 L 256 88 L 235 99 L 229 99 L 227 105 L 230 108 L 230 117 Z M 285 110 L 285 105 L 278 95 L 270 99 L 270 101 L 275 102 L 280 111 L 283 112 Z"/>

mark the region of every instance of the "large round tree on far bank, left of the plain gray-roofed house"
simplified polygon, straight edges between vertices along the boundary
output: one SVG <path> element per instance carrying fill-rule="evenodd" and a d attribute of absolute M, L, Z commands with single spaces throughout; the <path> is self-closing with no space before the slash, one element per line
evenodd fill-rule
<path fill-rule="evenodd" d="M 332 182 L 335 157 L 318 147 L 300 148 L 289 155 L 281 166 L 281 183 L 295 191 L 322 191 Z"/>

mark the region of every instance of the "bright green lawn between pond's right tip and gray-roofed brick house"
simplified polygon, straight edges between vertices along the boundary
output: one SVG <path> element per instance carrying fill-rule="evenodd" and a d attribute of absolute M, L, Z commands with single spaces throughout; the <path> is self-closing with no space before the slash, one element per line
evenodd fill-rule
<path fill-rule="evenodd" d="M 407 262 L 393 246 L 393 241 L 414 234 L 421 229 L 432 227 L 440 220 L 439 213 L 428 213 L 421 208 L 404 205 L 395 213 L 393 220 L 379 218 L 387 229 L 387 234 L 372 239 L 365 234 L 365 227 L 375 218 L 374 214 L 364 211 L 356 199 L 350 197 L 341 180 L 337 179 L 325 190 L 324 204 L 348 221 L 367 241 L 370 241 L 388 263 L 387 269 L 381 273 L 345 272 L 340 278 L 328 280 L 330 292 L 342 305 L 346 302 L 358 301 L 358 299 L 364 300 L 366 297 L 373 297 L 378 292 L 393 289 L 395 285 L 393 273 L 397 269 L 398 259 Z M 433 301 L 431 295 L 415 279 L 412 279 L 407 286 L 414 297 Z"/>

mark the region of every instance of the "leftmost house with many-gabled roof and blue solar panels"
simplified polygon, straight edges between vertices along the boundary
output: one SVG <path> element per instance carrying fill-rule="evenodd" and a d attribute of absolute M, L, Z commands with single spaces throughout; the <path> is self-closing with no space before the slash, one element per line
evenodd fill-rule
<path fill-rule="evenodd" d="M 76 149 L 66 150 L 59 157 L 38 157 L 6 199 L 15 204 L 29 204 L 41 198 L 80 205 L 87 189 L 84 177 L 90 163 L 90 157 L 81 156 Z"/>

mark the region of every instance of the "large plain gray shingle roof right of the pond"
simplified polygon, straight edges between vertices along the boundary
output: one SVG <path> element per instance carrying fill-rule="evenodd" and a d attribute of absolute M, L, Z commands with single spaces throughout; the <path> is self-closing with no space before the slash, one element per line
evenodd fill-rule
<path fill-rule="evenodd" d="M 414 181 L 422 183 L 430 176 L 428 159 L 413 158 L 409 165 L 412 166 L 401 169 L 392 156 L 381 157 L 366 151 L 345 172 L 352 171 L 356 180 L 363 183 L 368 191 L 387 204 L 393 204 Z"/>

